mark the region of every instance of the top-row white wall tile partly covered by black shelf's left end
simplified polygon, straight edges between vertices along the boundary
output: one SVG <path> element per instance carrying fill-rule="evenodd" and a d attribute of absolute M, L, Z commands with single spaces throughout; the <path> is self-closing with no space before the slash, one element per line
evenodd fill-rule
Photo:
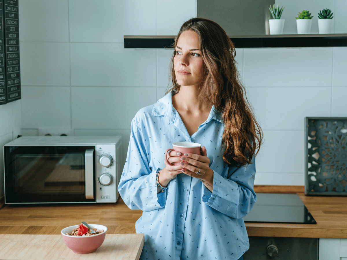
<path fill-rule="evenodd" d="M 70 41 L 123 43 L 124 35 L 155 35 L 155 2 L 70 0 Z"/>

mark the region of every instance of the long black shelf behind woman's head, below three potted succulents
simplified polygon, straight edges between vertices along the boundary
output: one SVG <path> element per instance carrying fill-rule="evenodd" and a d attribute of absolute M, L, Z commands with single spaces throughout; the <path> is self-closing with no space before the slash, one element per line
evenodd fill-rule
<path fill-rule="evenodd" d="M 170 48 L 175 36 L 124 35 L 126 49 Z M 344 47 L 347 34 L 232 35 L 236 48 Z"/>

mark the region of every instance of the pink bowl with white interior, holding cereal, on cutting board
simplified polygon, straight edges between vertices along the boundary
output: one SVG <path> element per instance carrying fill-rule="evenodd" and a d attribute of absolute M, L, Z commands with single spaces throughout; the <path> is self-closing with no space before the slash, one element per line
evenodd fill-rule
<path fill-rule="evenodd" d="M 90 236 L 69 236 L 66 233 L 71 233 L 74 228 L 77 228 L 78 225 L 66 227 L 61 230 L 61 235 L 63 237 L 64 243 L 67 245 L 69 249 L 71 249 L 74 253 L 77 254 L 87 254 L 96 251 L 99 246 L 105 240 L 107 227 L 98 224 L 89 224 L 91 227 L 95 227 L 98 230 L 103 229 L 104 232 L 96 235 Z"/>

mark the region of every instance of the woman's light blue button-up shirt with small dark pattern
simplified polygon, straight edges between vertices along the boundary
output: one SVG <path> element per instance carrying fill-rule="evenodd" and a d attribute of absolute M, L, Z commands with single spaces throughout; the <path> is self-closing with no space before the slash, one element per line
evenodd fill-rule
<path fill-rule="evenodd" d="M 255 204 L 255 161 L 228 167 L 222 158 L 223 122 L 212 107 L 208 119 L 189 136 L 172 106 L 171 93 L 139 110 L 132 120 L 127 159 L 118 185 L 130 209 L 141 209 L 136 232 L 145 235 L 141 260 L 239 259 L 249 248 L 243 217 Z M 181 173 L 157 193 L 155 175 L 174 142 L 206 147 L 213 192 Z"/>

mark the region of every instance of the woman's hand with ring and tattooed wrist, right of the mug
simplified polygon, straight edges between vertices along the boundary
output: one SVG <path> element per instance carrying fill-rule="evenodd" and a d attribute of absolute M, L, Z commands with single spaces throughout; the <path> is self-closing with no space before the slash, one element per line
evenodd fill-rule
<path fill-rule="evenodd" d="M 201 155 L 184 154 L 180 157 L 182 172 L 200 179 L 211 192 L 213 190 L 213 171 L 209 167 L 210 159 L 207 157 L 205 146 L 201 147 Z"/>

